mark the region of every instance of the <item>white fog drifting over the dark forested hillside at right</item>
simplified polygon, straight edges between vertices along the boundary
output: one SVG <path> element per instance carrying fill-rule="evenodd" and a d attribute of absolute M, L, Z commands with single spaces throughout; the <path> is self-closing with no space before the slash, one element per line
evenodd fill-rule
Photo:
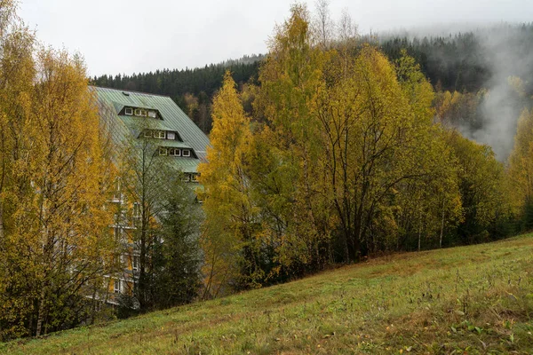
<path fill-rule="evenodd" d="M 473 56 L 463 56 L 459 51 L 457 58 L 442 58 L 439 53 L 428 53 L 429 58 L 438 59 L 443 64 L 454 61 L 458 67 L 466 62 L 471 67 L 479 66 L 487 69 L 488 77 L 481 83 L 487 93 L 481 99 L 478 115 L 481 122 L 461 120 L 457 129 L 467 138 L 492 147 L 497 159 L 505 162 L 513 150 L 516 123 L 524 108 L 530 104 L 533 93 L 529 78 L 533 74 L 533 29 L 519 24 L 479 24 L 458 23 L 455 25 L 414 28 L 380 34 L 380 37 L 401 36 L 413 40 L 424 37 L 441 36 L 451 40 L 459 33 L 473 33 L 479 47 Z M 449 66 L 453 67 L 453 66 Z M 509 83 L 510 77 L 519 77 L 524 82 L 524 93 L 519 93 Z M 433 83 L 435 84 L 435 83 Z M 458 91 L 462 91 L 460 87 Z M 475 93 L 475 92 L 473 92 Z"/>

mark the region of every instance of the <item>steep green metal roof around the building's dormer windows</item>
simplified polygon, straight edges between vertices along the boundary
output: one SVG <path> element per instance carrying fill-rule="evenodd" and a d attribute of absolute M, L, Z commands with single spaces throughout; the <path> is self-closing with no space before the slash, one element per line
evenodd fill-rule
<path fill-rule="evenodd" d="M 137 138 L 143 128 L 151 130 L 176 131 L 183 142 L 171 139 L 151 139 L 157 146 L 192 148 L 199 159 L 188 157 L 161 156 L 177 170 L 196 172 L 198 164 L 205 160 L 209 138 L 200 130 L 187 114 L 168 96 L 160 96 L 135 91 L 92 87 L 96 92 L 100 117 L 110 126 L 115 144 L 123 144 L 127 138 Z M 124 106 L 155 109 L 163 120 L 118 115 Z"/>

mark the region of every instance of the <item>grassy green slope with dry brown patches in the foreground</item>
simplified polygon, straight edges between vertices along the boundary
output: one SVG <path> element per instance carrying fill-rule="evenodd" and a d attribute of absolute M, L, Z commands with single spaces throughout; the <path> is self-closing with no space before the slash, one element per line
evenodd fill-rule
<path fill-rule="evenodd" d="M 533 235 L 0 345 L 10 353 L 533 353 Z"/>

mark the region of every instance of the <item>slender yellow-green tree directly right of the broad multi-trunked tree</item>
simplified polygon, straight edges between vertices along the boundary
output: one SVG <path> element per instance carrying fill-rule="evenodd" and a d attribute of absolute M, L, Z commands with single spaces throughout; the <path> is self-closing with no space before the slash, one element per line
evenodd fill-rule
<path fill-rule="evenodd" d="M 420 172 L 418 178 L 402 183 L 397 189 L 401 193 L 396 196 L 407 202 L 397 210 L 404 217 L 410 215 L 402 220 L 401 231 L 404 237 L 417 235 L 418 250 L 422 247 L 423 234 L 430 247 L 436 246 L 437 240 L 442 247 L 445 227 L 453 228 L 462 219 L 457 160 L 447 144 L 445 131 L 439 124 L 432 124 L 433 88 L 405 50 L 396 61 L 396 73 L 415 117 L 413 129 L 417 131 L 417 146 L 411 151 L 411 159 Z M 406 187 L 407 190 L 403 190 Z M 398 246 L 405 242 L 398 241 Z"/>

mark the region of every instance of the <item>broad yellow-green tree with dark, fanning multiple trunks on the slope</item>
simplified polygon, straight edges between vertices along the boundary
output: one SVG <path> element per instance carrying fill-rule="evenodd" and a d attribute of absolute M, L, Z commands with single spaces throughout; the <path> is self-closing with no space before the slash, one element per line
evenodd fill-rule
<path fill-rule="evenodd" d="M 338 60 L 346 62 L 342 56 Z M 356 260 L 397 233 L 400 187 L 433 173 L 417 159 L 432 144 L 433 93 L 411 62 L 401 63 L 399 83 L 395 68 L 370 46 L 347 63 L 330 69 L 334 84 L 319 107 L 344 258 Z"/>

